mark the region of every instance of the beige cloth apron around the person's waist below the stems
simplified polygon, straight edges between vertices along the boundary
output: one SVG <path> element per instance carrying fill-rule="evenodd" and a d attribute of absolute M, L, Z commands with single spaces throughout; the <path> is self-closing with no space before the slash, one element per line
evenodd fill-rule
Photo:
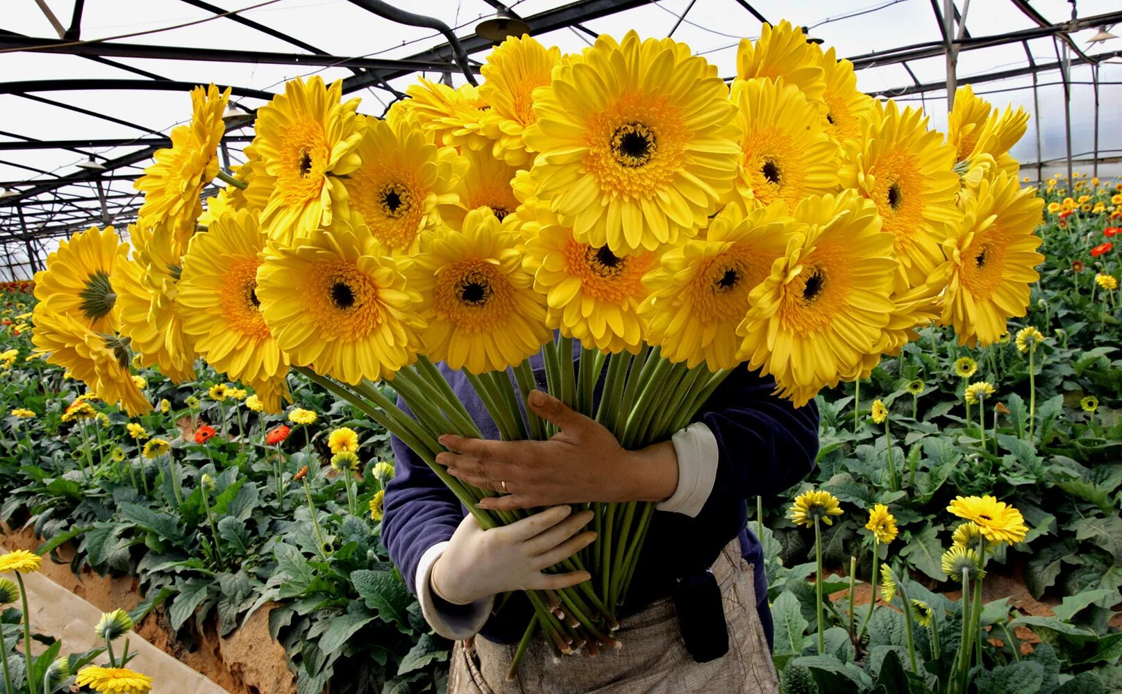
<path fill-rule="evenodd" d="M 695 663 L 682 642 L 673 601 L 663 597 L 620 622 L 615 637 L 620 649 L 604 649 L 595 658 L 583 652 L 557 663 L 539 634 L 518 666 L 517 677 L 506 673 L 515 646 L 475 639 L 469 650 L 461 641 L 452 649 L 449 694 L 778 694 L 779 682 L 764 638 L 753 567 L 741 557 L 733 540 L 712 566 L 725 602 L 728 652 L 709 663 Z"/>

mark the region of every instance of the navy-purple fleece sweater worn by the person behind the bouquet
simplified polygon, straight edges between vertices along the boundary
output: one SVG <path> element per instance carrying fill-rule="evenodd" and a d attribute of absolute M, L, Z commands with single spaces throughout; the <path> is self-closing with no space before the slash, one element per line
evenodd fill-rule
<path fill-rule="evenodd" d="M 531 363 L 539 387 L 545 390 L 541 357 Z M 467 378 L 443 364 L 440 368 L 482 435 L 497 439 L 498 430 Z M 712 492 L 697 518 L 655 511 L 620 617 L 669 595 L 679 575 L 711 565 L 720 549 L 739 537 L 745 560 L 755 566 L 757 610 L 767 642 L 772 642 L 763 549 L 747 528 L 747 500 L 774 495 L 791 486 L 813 468 L 818 453 L 817 408 L 813 403 L 794 408 L 790 401 L 772 395 L 774 389 L 773 378 L 742 366 L 698 412 L 695 421 L 709 427 L 719 450 Z M 450 539 L 467 510 L 396 437 L 393 447 L 396 474 L 386 487 L 381 539 L 406 585 L 416 593 L 421 555 Z M 441 610 L 454 612 L 456 605 L 441 601 Z M 480 633 L 491 641 L 516 642 L 532 613 L 525 596 L 516 595 L 491 615 Z"/>

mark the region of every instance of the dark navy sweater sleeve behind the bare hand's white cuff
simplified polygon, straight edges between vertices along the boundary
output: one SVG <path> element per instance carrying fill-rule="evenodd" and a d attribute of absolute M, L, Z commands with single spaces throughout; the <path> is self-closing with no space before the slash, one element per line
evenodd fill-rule
<path fill-rule="evenodd" d="M 773 495 L 802 480 L 818 455 L 818 408 L 773 394 L 775 381 L 741 366 L 695 417 L 716 439 L 716 474 L 701 512 Z M 711 450 L 711 449 L 710 449 Z"/>

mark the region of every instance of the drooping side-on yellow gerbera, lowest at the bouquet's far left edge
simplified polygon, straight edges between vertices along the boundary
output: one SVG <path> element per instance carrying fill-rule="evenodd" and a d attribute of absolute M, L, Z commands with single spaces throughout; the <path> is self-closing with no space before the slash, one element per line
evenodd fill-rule
<path fill-rule="evenodd" d="M 68 368 L 105 402 L 120 403 L 130 416 L 151 410 L 151 403 L 129 373 L 128 339 L 95 332 L 74 318 L 54 310 L 53 301 L 35 307 L 31 341 L 47 362 Z"/>

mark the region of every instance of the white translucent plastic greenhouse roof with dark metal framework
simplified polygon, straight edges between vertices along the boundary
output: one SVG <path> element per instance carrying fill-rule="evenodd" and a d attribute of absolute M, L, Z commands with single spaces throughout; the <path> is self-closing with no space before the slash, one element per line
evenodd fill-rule
<path fill-rule="evenodd" d="M 392 3 L 452 27 L 476 65 L 490 45 L 476 37 L 475 27 L 503 6 L 498 0 Z M 940 129 L 946 124 L 945 44 L 938 20 L 944 3 L 507 0 L 508 9 L 531 25 L 536 38 L 562 51 L 579 51 L 600 33 L 622 36 L 636 29 L 656 37 L 672 33 L 729 77 L 742 37 L 757 37 L 762 19 L 789 19 L 835 47 L 839 57 L 854 60 L 859 89 L 922 106 Z M 362 4 L 362 0 L 7 0 L 0 20 L 0 191 L 13 192 L 0 198 L 0 248 L 6 253 L 0 274 L 29 276 L 28 253 L 44 257 L 57 238 L 74 229 L 108 222 L 123 231 L 140 204 L 132 182 L 150 163 L 150 153 L 166 146 L 160 138 L 190 118 L 186 92 L 192 84 L 232 85 L 231 103 L 251 112 L 283 90 L 286 80 L 319 74 L 329 82 L 344 80 L 344 91 L 362 98 L 359 111 L 381 115 L 395 90 L 403 91 L 417 74 L 440 79 L 450 72 L 453 83 L 465 81 L 439 31 L 396 24 Z M 954 4 L 956 13 L 966 12 L 958 83 L 974 81 L 975 91 L 988 94 L 991 101 L 1039 113 L 1040 158 L 1046 167 L 1049 161 L 1055 167 L 1067 153 L 1057 69 L 1063 42 L 1058 29 L 1047 25 L 1070 20 L 1072 4 L 1067 0 L 956 0 Z M 1076 9 L 1080 25 L 1068 34 L 1082 53 L 1072 54 L 1072 154 L 1087 157 L 1094 149 L 1097 80 L 1097 150 L 1103 158 L 1122 161 L 1118 108 L 1122 38 L 1088 44 L 1101 27 L 1122 22 L 1122 3 L 1078 0 Z M 1082 56 L 1089 56 L 1091 64 Z M 1107 62 L 1111 57 L 1115 62 Z M 1039 110 L 1033 106 L 1033 73 Z M 227 131 L 230 164 L 241 161 L 241 149 L 252 135 L 251 118 L 243 122 Z M 1030 124 L 1013 154 L 1034 166 L 1037 141 L 1036 126 Z M 79 166 L 90 159 L 105 170 Z M 1027 166 L 1024 173 L 1034 174 L 1036 168 L 1030 172 Z"/>

